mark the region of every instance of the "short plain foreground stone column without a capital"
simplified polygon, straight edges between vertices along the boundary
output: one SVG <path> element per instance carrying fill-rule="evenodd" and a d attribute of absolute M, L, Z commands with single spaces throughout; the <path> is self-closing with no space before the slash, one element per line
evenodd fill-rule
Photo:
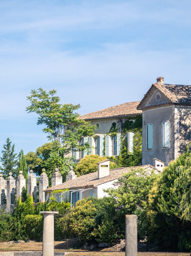
<path fill-rule="evenodd" d="M 125 256 L 137 256 L 137 215 L 125 216 Z"/>

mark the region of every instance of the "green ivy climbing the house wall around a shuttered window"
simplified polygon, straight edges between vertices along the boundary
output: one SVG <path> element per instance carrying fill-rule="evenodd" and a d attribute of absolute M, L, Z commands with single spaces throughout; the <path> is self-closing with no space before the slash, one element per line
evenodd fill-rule
<path fill-rule="evenodd" d="M 133 132 L 133 153 L 127 152 L 127 133 Z M 137 166 L 142 164 L 142 117 L 137 117 L 135 122 L 128 118 L 121 129 L 121 151 L 118 156 L 118 165 Z"/>

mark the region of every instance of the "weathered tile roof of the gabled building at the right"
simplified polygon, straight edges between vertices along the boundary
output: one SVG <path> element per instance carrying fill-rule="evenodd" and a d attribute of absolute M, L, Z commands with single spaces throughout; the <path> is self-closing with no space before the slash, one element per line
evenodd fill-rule
<path fill-rule="evenodd" d="M 144 98 L 139 103 L 137 109 L 144 109 L 145 104 L 150 98 L 152 92 L 156 89 L 161 91 L 169 100 L 170 103 L 182 103 L 190 104 L 191 103 L 191 85 L 170 85 L 163 84 L 161 82 L 154 83 L 147 93 L 144 95 Z M 167 103 L 165 103 L 167 104 Z M 161 105 L 160 103 L 156 105 Z"/>

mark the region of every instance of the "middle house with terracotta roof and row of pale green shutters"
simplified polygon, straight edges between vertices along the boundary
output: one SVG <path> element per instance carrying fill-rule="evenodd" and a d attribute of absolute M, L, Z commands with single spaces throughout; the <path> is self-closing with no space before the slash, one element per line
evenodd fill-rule
<path fill-rule="evenodd" d="M 88 142 L 90 148 L 81 152 L 73 151 L 73 157 L 79 161 L 84 156 L 97 154 L 99 156 L 119 156 L 121 150 L 121 126 L 123 122 L 129 118 L 132 122 L 137 116 L 141 116 L 142 110 L 138 110 L 137 106 L 140 101 L 127 102 L 117 106 L 91 112 L 82 115 L 86 121 L 97 125 L 94 137 L 81 138 L 80 144 Z M 127 150 L 132 152 L 133 134 L 127 133 Z"/>

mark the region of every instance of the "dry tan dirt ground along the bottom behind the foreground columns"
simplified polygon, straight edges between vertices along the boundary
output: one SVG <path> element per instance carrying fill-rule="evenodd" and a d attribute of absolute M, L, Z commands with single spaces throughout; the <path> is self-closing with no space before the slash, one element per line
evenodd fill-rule
<path fill-rule="evenodd" d="M 66 252 L 66 250 L 56 249 L 60 242 L 55 241 L 55 251 Z M 42 243 L 0 243 L 0 252 L 5 251 L 42 251 Z M 69 250 L 68 256 L 124 256 L 124 252 L 87 252 L 82 250 Z M 138 256 L 190 256 L 190 253 L 173 252 L 138 252 Z"/>

